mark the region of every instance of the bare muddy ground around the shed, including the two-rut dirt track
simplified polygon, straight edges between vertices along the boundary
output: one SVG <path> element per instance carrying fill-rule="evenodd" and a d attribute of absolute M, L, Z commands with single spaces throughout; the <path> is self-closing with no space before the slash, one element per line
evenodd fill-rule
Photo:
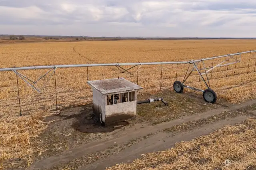
<path fill-rule="evenodd" d="M 46 118 L 54 122 L 39 137 L 45 152 L 29 169 L 100 170 L 256 115 L 256 100 L 242 105 L 210 104 L 201 95 L 172 91 L 140 95 L 138 100 L 149 97 L 163 97 L 169 105 L 161 101 L 137 105 L 136 119 L 124 127 L 102 127 L 92 114 L 92 104 L 65 108 Z"/>

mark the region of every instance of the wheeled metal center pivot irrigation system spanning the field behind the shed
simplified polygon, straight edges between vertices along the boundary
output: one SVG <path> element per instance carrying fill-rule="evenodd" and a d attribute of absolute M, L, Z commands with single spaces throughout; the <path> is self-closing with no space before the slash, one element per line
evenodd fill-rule
<path fill-rule="evenodd" d="M 184 76 L 183 81 L 182 82 L 180 82 L 180 81 L 175 81 L 174 82 L 174 85 L 173 85 L 174 90 L 177 93 L 182 93 L 184 87 L 186 87 L 186 88 L 189 88 L 189 89 L 193 89 L 195 91 L 201 91 L 201 92 L 203 92 L 203 97 L 204 97 L 204 100 L 206 102 L 208 102 L 208 103 L 215 103 L 216 99 L 217 99 L 217 95 L 216 95 L 216 93 L 210 87 L 208 73 L 210 71 L 212 71 L 216 67 L 223 67 L 223 66 L 227 66 L 227 65 L 232 65 L 232 64 L 240 63 L 241 55 L 244 54 L 244 53 L 254 53 L 254 55 L 255 55 L 256 50 L 245 51 L 245 52 L 238 52 L 238 53 L 233 53 L 233 54 L 228 54 L 228 55 L 221 55 L 221 56 L 217 56 L 217 57 L 214 56 L 214 57 L 210 57 L 210 58 L 204 58 L 204 59 L 198 59 L 198 60 L 190 60 L 190 61 L 153 62 L 153 63 L 105 63 L 105 64 L 78 64 L 78 65 L 42 65 L 42 66 L 29 66 L 29 67 L 0 68 L 0 71 L 13 71 L 16 74 L 17 83 L 18 83 L 18 77 L 20 77 L 28 85 L 30 85 L 33 89 L 38 91 L 38 93 L 41 93 L 42 90 L 44 89 L 44 87 L 46 86 L 46 83 L 48 81 L 50 81 L 51 77 L 54 75 L 54 78 L 55 78 L 55 71 L 58 68 L 70 68 L 70 67 L 87 67 L 88 68 L 88 67 L 97 67 L 97 66 L 116 66 L 116 67 L 118 67 L 119 70 L 122 71 L 122 73 L 126 72 L 126 73 L 129 73 L 129 74 L 133 75 L 128 70 L 130 70 L 130 69 L 132 69 L 132 68 L 134 68 L 136 66 L 138 66 L 138 70 L 139 70 L 142 65 L 189 64 L 189 67 L 187 69 L 187 72 L 186 72 L 186 75 Z M 252 57 L 254 57 L 254 55 Z M 250 57 L 251 57 L 251 55 L 250 55 Z M 217 65 L 213 65 L 214 59 L 219 59 L 220 62 Z M 212 67 L 206 68 L 205 61 L 207 61 L 207 60 L 212 60 Z M 203 65 L 202 69 L 201 68 L 198 69 L 198 64 L 199 63 L 200 63 L 200 65 Z M 129 69 L 124 69 L 122 66 L 125 66 L 125 65 L 126 66 L 127 65 L 131 66 L 131 67 Z M 41 77 L 39 77 L 36 81 L 32 81 L 31 79 L 29 79 L 25 75 L 22 75 L 21 73 L 18 72 L 20 70 L 32 70 L 32 69 L 50 69 L 50 70 L 47 71 Z M 195 87 L 190 87 L 188 85 L 185 85 L 186 80 L 188 79 L 188 77 L 194 71 L 196 71 L 200 75 L 200 77 L 202 78 L 202 81 L 204 81 L 204 84 L 206 86 L 205 90 L 197 89 Z M 204 71 L 204 73 L 201 73 L 201 71 Z M 36 88 L 34 85 L 36 85 L 36 83 L 40 79 L 42 79 L 43 77 L 45 77 L 48 74 L 50 74 L 50 77 L 44 83 L 42 89 L 40 90 L 40 89 Z M 206 76 L 203 76 L 203 75 L 206 75 Z M 55 79 L 55 87 L 56 87 L 56 79 Z"/>

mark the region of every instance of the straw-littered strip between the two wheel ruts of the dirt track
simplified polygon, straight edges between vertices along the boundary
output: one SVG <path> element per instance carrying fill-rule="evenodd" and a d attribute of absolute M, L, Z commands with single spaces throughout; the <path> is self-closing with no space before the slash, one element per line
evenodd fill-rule
<path fill-rule="evenodd" d="M 238 116 L 244 116 L 244 115 L 251 115 L 251 112 L 247 111 L 248 107 L 246 107 L 246 111 L 244 109 L 239 109 L 232 112 L 222 112 L 218 115 L 213 115 L 210 117 L 207 117 L 206 119 L 199 119 L 198 121 L 190 121 L 188 123 L 183 123 L 180 125 L 173 126 L 171 128 L 163 130 L 163 132 L 172 132 L 172 136 L 174 136 L 176 133 L 186 132 L 190 130 L 194 130 L 196 128 L 201 128 L 202 126 L 209 125 L 224 120 L 224 119 L 232 119 Z M 106 150 L 102 150 L 100 152 L 94 152 L 89 155 L 85 155 L 83 157 L 76 158 L 72 160 L 68 165 L 59 165 L 58 167 L 55 167 L 53 170 L 60 170 L 60 169 L 67 169 L 67 168 L 78 168 L 82 166 L 88 166 L 88 164 L 93 164 L 96 161 L 101 161 L 103 159 L 108 158 L 109 156 L 114 156 L 114 154 L 118 154 L 119 152 L 123 152 L 125 149 L 129 149 L 128 147 L 131 147 L 135 144 L 143 143 L 146 140 L 149 140 L 154 138 L 154 135 L 158 135 L 158 133 L 155 134 L 148 134 L 147 136 L 143 136 L 140 138 L 136 138 L 131 140 L 130 142 L 127 142 L 125 144 L 116 145 L 113 147 L 110 147 Z M 157 142 L 157 138 L 155 140 Z M 159 140 L 160 141 L 160 140 Z"/>

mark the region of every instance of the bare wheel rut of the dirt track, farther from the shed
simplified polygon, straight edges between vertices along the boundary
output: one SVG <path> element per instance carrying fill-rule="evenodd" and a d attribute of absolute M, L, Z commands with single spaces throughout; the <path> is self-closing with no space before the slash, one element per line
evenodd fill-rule
<path fill-rule="evenodd" d="M 105 170 L 107 167 L 114 166 L 115 164 L 120 163 L 130 163 L 136 158 L 140 158 L 141 154 L 146 154 L 150 152 L 157 152 L 159 150 L 166 150 L 174 147 L 176 142 L 181 141 L 190 141 L 198 136 L 206 135 L 211 132 L 214 132 L 214 129 L 223 127 L 224 125 L 234 125 L 236 123 L 241 123 L 249 117 L 239 116 L 230 120 L 221 120 L 218 121 L 212 126 L 205 125 L 201 128 L 191 130 L 189 132 L 182 132 L 173 136 L 173 133 L 166 134 L 160 132 L 137 145 L 133 145 L 130 148 L 127 148 L 123 152 L 120 152 L 116 155 L 110 156 L 104 160 L 98 160 L 87 166 L 82 166 L 78 170 Z"/>

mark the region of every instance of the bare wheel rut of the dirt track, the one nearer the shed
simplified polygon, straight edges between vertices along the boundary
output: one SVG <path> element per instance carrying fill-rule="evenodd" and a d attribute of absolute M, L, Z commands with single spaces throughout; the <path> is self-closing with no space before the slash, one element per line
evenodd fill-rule
<path fill-rule="evenodd" d="M 182 123 L 186 123 L 189 121 L 196 121 L 199 119 L 206 119 L 207 117 L 210 117 L 212 115 L 218 115 L 224 111 L 233 111 L 237 109 L 242 109 L 244 107 L 248 107 L 253 104 L 256 104 L 256 100 L 248 101 L 243 105 L 230 105 L 230 107 L 226 109 L 222 107 L 220 109 L 215 109 L 215 110 L 207 111 L 204 113 L 182 117 L 181 119 L 176 119 L 170 122 L 166 122 L 166 123 L 162 123 L 154 126 L 136 124 L 133 127 L 117 132 L 110 139 L 90 142 L 88 144 L 82 144 L 76 148 L 62 152 L 62 154 L 60 154 L 59 156 L 51 156 L 51 157 L 39 160 L 34 164 L 32 164 L 29 169 L 40 170 L 45 168 L 51 168 L 59 164 L 65 164 L 67 162 L 72 161 L 75 158 L 82 157 L 84 155 L 98 152 L 101 150 L 105 150 L 108 147 L 124 144 L 128 142 L 128 140 L 138 138 L 140 136 L 146 136 L 149 133 L 153 133 L 153 134 L 158 133 L 159 131 L 162 131 L 166 128 L 170 128 L 175 125 L 180 125 Z"/>

